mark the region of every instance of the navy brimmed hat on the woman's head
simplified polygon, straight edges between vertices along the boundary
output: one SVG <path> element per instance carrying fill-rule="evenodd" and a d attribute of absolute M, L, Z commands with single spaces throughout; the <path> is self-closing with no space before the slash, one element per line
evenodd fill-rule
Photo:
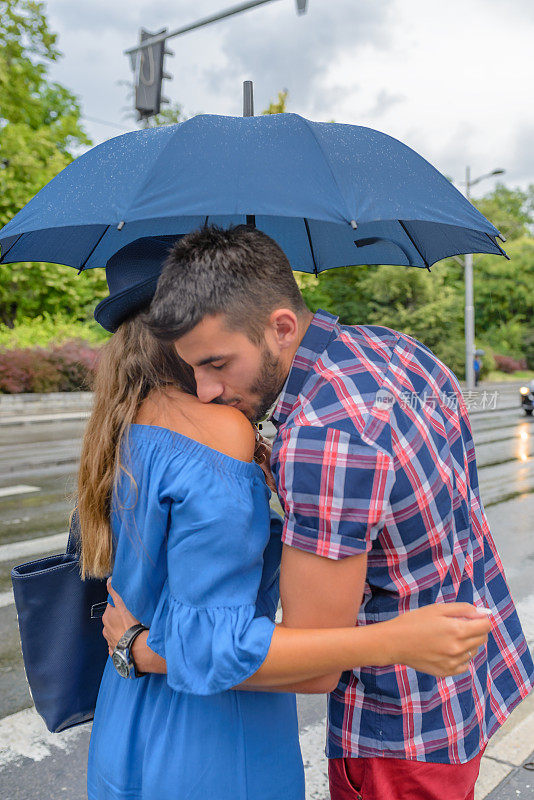
<path fill-rule="evenodd" d="M 106 265 L 109 296 L 97 305 L 94 317 L 110 333 L 115 333 L 136 311 L 148 306 L 154 297 L 158 278 L 173 244 L 181 236 L 146 236 L 118 250 Z"/>

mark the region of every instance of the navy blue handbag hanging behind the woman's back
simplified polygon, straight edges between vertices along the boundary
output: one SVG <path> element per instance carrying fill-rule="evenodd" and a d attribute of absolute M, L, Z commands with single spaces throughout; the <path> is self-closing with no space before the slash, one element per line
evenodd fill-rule
<path fill-rule="evenodd" d="M 66 553 L 14 567 L 22 657 L 37 712 L 52 733 L 93 719 L 108 658 L 105 579 L 82 581 L 75 512 Z"/>

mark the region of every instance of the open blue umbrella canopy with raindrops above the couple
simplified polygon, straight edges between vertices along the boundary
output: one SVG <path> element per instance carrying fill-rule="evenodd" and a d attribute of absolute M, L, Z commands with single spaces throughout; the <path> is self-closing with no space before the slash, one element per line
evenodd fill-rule
<path fill-rule="evenodd" d="M 145 236 L 255 217 L 294 269 L 504 254 L 499 231 L 384 133 L 297 114 L 200 115 L 98 145 L 0 231 L 3 263 L 104 266 Z"/>

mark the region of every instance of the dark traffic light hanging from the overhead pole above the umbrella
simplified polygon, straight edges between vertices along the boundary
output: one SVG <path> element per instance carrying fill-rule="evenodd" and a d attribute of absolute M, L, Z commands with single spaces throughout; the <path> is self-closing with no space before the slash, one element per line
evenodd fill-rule
<path fill-rule="evenodd" d="M 140 41 L 144 42 L 166 32 L 167 28 L 157 33 L 150 33 L 141 28 Z M 165 40 L 148 45 L 135 53 L 135 107 L 139 119 L 159 114 L 161 104 L 169 102 L 161 95 L 162 81 L 171 77 L 163 71 L 165 55 L 172 55 L 165 49 Z"/>

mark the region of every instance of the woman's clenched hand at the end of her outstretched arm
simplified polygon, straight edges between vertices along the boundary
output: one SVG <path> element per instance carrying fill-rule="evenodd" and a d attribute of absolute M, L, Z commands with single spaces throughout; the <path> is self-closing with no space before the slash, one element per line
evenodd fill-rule
<path fill-rule="evenodd" d="M 406 664 L 438 678 L 460 675 L 488 640 L 491 622 L 469 603 L 438 603 L 387 623 L 393 648 L 389 663 Z"/>

